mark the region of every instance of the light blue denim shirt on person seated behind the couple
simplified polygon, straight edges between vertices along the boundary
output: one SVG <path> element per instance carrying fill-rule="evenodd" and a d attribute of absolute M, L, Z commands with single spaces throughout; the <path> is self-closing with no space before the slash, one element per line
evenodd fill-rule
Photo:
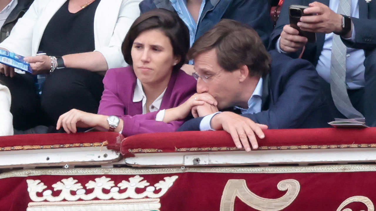
<path fill-rule="evenodd" d="M 189 29 L 190 46 L 192 46 L 194 43 L 194 38 L 196 36 L 198 21 L 196 23 L 191 13 L 188 11 L 186 0 L 170 0 L 170 2 L 177 14 L 179 15 L 179 17 L 183 20 L 183 22 Z M 206 0 L 202 0 L 198 20 L 200 20 L 205 3 Z"/>

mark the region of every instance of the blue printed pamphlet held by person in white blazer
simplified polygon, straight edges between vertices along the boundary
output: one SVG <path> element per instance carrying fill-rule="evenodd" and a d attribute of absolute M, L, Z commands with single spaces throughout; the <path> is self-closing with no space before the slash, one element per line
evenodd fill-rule
<path fill-rule="evenodd" d="M 30 64 L 23 60 L 23 56 L 0 49 L 0 63 L 33 73 Z"/>

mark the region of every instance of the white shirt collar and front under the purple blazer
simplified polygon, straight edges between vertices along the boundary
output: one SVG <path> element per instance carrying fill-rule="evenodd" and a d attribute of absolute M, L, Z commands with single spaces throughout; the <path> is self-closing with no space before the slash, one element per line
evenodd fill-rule
<path fill-rule="evenodd" d="M 167 89 L 167 88 L 166 88 Z M 150 104 L 149 111 L 150 112 L 156 112 L 161 107 L 162 98 L 164 93 L 166 92 L 166 89 Z M 144 92 L 144 89 L 142 87 L 141 81 L 137 78 L 135 91 L 133 93 L 133 102 L 139 102 L 142 101 L 142 114 L 147 113 L 146 109 L 146 95 Z M 156 121 L 163 121 L 165 110 L 161 110 L 157 113 L 155 120 Z"/>

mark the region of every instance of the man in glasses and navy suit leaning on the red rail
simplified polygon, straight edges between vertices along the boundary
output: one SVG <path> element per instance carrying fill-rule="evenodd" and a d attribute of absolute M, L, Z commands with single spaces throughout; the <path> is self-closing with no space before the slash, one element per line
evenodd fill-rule
<path fill-rule="evenodd" d="M 180 131 L 223 129 L 238 148 L 250 151 L 249 142 L 258 148 L 254 133 L 264 138 L 261 129 L 328 127 L 332 119 L 314 66 L 276 51 L 269 54 L 255 30 L 237 21 L 221 20 L 197 39 L 188 56 L 194 59 L 197 92 L 217 103 L 194 107 L 194 117 L 200 117 Z"/>

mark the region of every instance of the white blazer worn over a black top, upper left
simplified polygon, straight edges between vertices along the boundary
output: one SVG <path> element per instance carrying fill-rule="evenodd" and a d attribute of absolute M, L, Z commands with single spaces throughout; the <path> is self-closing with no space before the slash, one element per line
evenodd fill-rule
<path fill-rule="evenodd" d="M 45 27 L 67 0 L 35 0 L 0 47 L 21 56 L 35 56 Z M 139 17 L 141 0 L 101 0 L 94 16 L 95 50 L 103 54 L 108 68 L 127 66 L 121 53 L 133 21 Z M 58 46 L 57 46 L 58 47 Z"/>

